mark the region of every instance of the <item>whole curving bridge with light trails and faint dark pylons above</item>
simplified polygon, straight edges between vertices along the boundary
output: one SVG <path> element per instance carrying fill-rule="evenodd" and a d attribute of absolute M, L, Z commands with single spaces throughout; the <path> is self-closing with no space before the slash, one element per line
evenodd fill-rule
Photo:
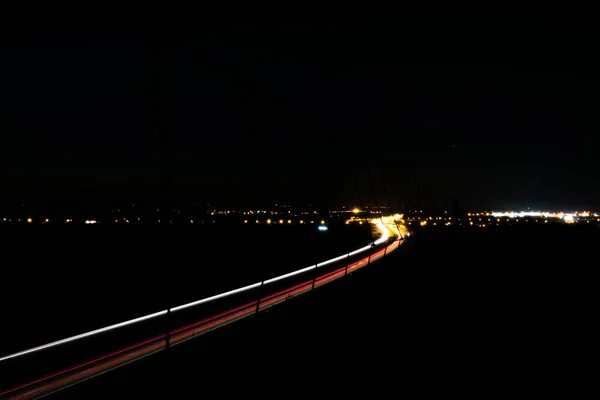
<path fill-rule="evenodd" d="M 160 80 L 156 84 L 160 86 Z M 161 92 L 160 88 L 156 90 Z M 247 97 L 255 96 L 255 92 L 256 88 L 247 88 Z M 246 98 L 245 102 L 250 100 Z M 154 106 L 163 167 L 161 221 L 168 224 L 173 209 L 171 150 L 167 130 L 161 119 L 160 96 L 156 96 Z M 263 205 L 272 204 L 272 188 L 264 166 L 264 154 L 257 145 L 260 143 L 260 128 L 251 114 L 248 115 L 247 123 Z M 328 136 L 325 142 L 334 193 L 328 197 L 327 205 L 323 204 L 323 199 L 313 202 L 314 207 L 322 209 L 331 206 L 330 199 L 335 196 L 338 197 L 336 205 L 341 204 L 343 192 L 340 188 L 342 184 L 336 182 L 332 156 L 335 149 L 333 136 Z M 378 237 L 372 237 L 363 247 L 284 275 L 262 279 L 191 303 L 169 304 L 166 309 L 148 315 L 1 356 L 0 368 L 9 372 L 2 376 L 10 376 L 10 379 L 3 378 L 0 382 L 0 397 L 29 399 L 52 394 L 115 368 L 168 351 L 173 346 L 266 311 L 296 296 L 310 293 L 388 256 L 405 243 L 409 232 L 402 225 L 402 213 L 411 208 L 457 209 L 455 204 L 447 204 L 444 196 L 437 196 L 417 180 L 399 174 L 399 168 L 377 167 L 366 153 L 363 156 L 361 154 L 361 144 L 355 143 L 353 157 L 357 168 L 353 176 L 353 190 L 358 205 L 363 210 L 366 208 L 366 197 L 371 198 L 378 216 L 368 222 L 376 228 Z M 390 171 L 393 176 L 390 176 Z M 375 175 L 379 179 L 377 183 L 374 182 Z M 361 177 L 366 183 L 361 184 Z M 393 184 L 390 185 L 390 182 Z M 395 204 L 392 197 L 395 198 Z M 383 209 L 389 215 L 384 215 Z"/>

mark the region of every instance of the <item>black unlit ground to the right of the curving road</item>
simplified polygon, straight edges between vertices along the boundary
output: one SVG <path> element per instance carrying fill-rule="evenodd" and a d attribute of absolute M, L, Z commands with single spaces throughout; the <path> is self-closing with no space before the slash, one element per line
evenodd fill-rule
<path fill-rule="evenodd" d="M 53 398 L 572 395 L 593 371 L 599 234 L 422 231 L 313 294 Z"/>

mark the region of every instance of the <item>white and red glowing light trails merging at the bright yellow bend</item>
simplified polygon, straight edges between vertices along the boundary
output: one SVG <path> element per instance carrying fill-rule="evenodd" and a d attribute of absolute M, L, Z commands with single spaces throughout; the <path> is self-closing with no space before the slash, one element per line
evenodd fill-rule
<path fill-rule="evenodd" d="M 371 221 L 381 233 L 381 237 L 373 242 L 372 245 L 365 246 L 361 249 L 355 250 L 354 252 L 350 252 L 349 254 L 344 254 L 343 256 L 336 257 L 331 260 L 327 260 L 325 262 L 319 263 L 315 266 L 311 266 L 308 268 L 304 268 L 302 270 L 294 271 L 273 279 L 266 280 L 261 283 L 257 283 L 254 285 L 249 285 L 240 289 L 232 290 L 230 292 L 222 293 L 216 296 L 212 296 L 206 299 L 202 299 L 193 303 L 184 304 L 182 306 L 174 307 L 170 309 L 170 312 L 176 312 L 185 308 L 190 308 L 197 306 L 199 304 L 208 303 L 212 300 L 227 297 L 230 295 L 234 295 L 237 293 L 241 293 L 243 291 L 254 289 L 257 287 L 261 287 L 263 285 L 268 285 L 270 283 L 287 279 L 292 276 L 303 274 L 310 270 L 315 270 L 317 267 L 322 267 L 327 264 L 332 264 L 334 262 L 340 262 L 350 255 L 359 254 L 361 252 L 365 252 L 370 250 L 372 246 L 378 246 L 385 244 L 382 248 L 378 249 L 372 254 L 369 254 L 358 261 L 355 261 L 351 264 L 344 265 L 340 268 L 337 268 L 333 271 L 330 271 L 326 274 L 317 276 L 310 280 L 303 281 L 299 284 L 288 287 L 287 289 L 277 291 L 275 293 L 261 296 L 260 300 L 254 300 L 248 302 L 246 304 L 240 305 L 233 309 L 227 310 L 223 313 L 214 315 L 212 317 L 200 320 L 193 324 L 189 324 L 169 332 L 168 343 L 169 346 L 174 346 L 177 344 L 181 344 L 189 339 L 192 339 L 196 336 L 207 333 L 211 330 L 223 327 L 227 324 L 230 324 L 234 321 L 240 320 L 244 317 L 253 315 L 258 311 L 266 310 L 276 304 L 282 303 L 292 297 L 298 296 L 300 294 L 306 293 L 313 288 L 322 286 L 326 283 L 329 283 L 337 278 L 345 276 L 349 273 L 352 273 L 369 263 L 379 260 L 386 254 L 391 253 L 395 249 L 403 243 L 403 237 L 399 234 L 398 229 L 396 228 L 396 222 L 393 217 L 388 217 L 385 219 L 377 219 Z M 396 235 L 396 239 L 389 243 L 390 232 Z M 386 244 L 389 243 L 389 244 Z M 354 254 L 353 254 L 354 253 Z M 257 304 L 258 303 L 258 304 Z M 46 345 L 38 346 L 33 349 L 25 350 L 19 353 L 15 353 L 9 356 L 5 356 L 0 358 L 0 362 L 18 358 L 30 353 L 34 353 L 37 351 L 44 350 L 46 348 L 55 347 L 64 343 L 77 341 L 79 339 L 83 339 L 85 337 L 93 336 L 102 332 L 106 332 L 112 329 L 116 329 L 122 326 L 127 326 L 131 324 L 138 323 L 143 320 L 148 320 L 151 318 L 159 317 L 166 315 L 168 310 L 164 310 L 158 313 L 150 314 L 144 317 L 136 318 L 131 321 L 126 321 L 120 324 L 115 324 L 106 328 L 97 329 L 95 331 L 87 332 L 81 335 L 73 336 L 70 338 L 66 338 L 63 340 L 59 340 L 57 342 L 49 343 Z M 67 368 L 60 372 L 45 376 L 43 378 L 31 381 L 24 385 L 20 385 L 14 387 L 10 390 L 4 391 L 0 393 L 1 398 L 12 398 L 12 399 L 34 399 L 39 398 L 41 396 L 46 396 L 51 393 L 54 393 L 58 390 L 64 389 L 66 387 L 72 386 L 76 383 L 83 382 L 87 379 L 93 378 L 100 374 L 106 373 L 112 369 L 121 367 L 123 365 L 129 364 L 133 361 L 139 360 L 141 358 L 147 357 L 159 351 L 165 350 L 167 346 L 167 335 L 162 334 L 151 339 L 145 340 L 143 342 L 134 344 L 132 346 L 123 348 L 121 350 L 106 354 L 102 357 L 98 357 L 92 359 L 90 361 L 81 363 L 79 365 Z M 8 397 L 5 397 L 8 396 Z"/>

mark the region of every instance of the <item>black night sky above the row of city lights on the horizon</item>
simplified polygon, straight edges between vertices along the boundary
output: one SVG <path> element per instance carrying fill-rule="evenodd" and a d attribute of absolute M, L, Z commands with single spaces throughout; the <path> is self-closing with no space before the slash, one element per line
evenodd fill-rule
<path fill-rule="evenodd" d="M 599 208 L 594 65 L 560 34 L 477 36 L 375 23 L 15 24 L 1 201 L 159 198 L 160 99 L 175 201 L 355 202 L 353 179 L 366 188 L 370 166 L 377 190 L 383 171 L 390 188 L 412 181 L 473 208 Z"/>

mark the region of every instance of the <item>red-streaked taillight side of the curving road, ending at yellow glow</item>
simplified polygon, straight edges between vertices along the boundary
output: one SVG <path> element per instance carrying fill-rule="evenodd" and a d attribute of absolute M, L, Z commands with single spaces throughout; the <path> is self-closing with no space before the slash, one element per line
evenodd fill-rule
<path fill-rule="evenodd" d="M 382 232 L 382 237 L 375 241 L 375 244 L 387 242 L 390 231 L 397 232 L 392 226 L 392 223 L 389 221 L 387 223 L 377 223 L 377 226 Z M 382 238 L 385 238 L 386 240 L 382 241 Z M 211 316 L 187 326 L 174 329 L 169 332 L 169 345 L 175 346 L 181 344 L 189 339 L 223 327 L 242 318 L 251 316 L 257 312 L 264 311 L 292 297 L 307 293 L 314 288 L 318 288 L 335 279 L 353 273 L 358 269 L 369 265 L 371 262 L 379 260 L 386 254 L 393 252 L 398 248 L 398 246 L 400 246 L 400 244 L 402 244 L 402 242 L 402 239 L 395 239 L 390 244 L 383 246 L 383 248 L 380 250 L 377 250 L 376 252 L 367 255 L 351 264 L 337 268 L 334 271 L 330 271 L 300 284 L 293 285 L 284 290 L 263 296 L 258 301 L 255 300 L 248 302 L 226 312 Z M 98 357 L 96 359 L 67 368 L 24 385 L 17 386 L 0 393 L 0 397 L 11 399 L 33 399 L 48 395 L 79 382 L 83 382 L 87 379 L 91 379 L 100 374 L 109 372 L 112 369 L 163 351 L 166 349 L 166 345 L 167 335 L 159 335 L 152 339 L 148 339 L 121 350 L 106 354 L 102 357 Z"/>

